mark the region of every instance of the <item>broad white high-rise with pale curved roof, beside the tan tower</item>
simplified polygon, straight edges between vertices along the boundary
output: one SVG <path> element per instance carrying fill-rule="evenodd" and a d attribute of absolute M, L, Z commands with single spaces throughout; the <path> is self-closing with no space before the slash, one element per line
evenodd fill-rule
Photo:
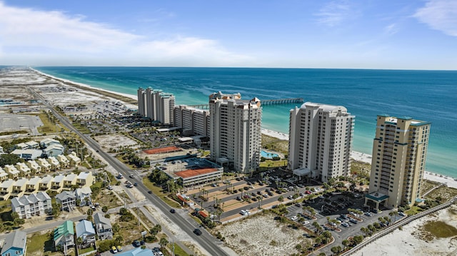
<path fill-rule="evenodd" d="M 306 102 L 291 109 L 288 168 L 322 182 L 348 175 L 354 121 L 343 106 Z"/>

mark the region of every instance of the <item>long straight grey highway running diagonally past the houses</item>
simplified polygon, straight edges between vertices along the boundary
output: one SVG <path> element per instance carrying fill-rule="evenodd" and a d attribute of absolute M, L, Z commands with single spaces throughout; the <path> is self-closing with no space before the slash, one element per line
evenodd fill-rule
<path fill-rule="evenodd" d="M 109 163 L 112 168 L 117 170 L 119 173 L 122 173 L 125 177 L 129 177 L 131 174 L 131 170 L 127 168 L 123 163 L 119 162 L 116 158 L 112 157 L 108 153 L 104 152 L 101 148 L 99 143 L 97 143 L 95 140 L 90 138 L 89 135 L 84 135 L 81 133 L 79 130 L 74 128 L 74 126 L 64 117 L 61 116 L 61 114 L 52 107 L 45 98 L 43 98 L 39 93 L 34 92 L 33 90 L 30 90 L 32 93 L 37 98 L 40 98 L 44 105 L 49 108 L 49 110 L 56 116 L 59 121 L 72 130 L 74 133 L 79 135 L 79 137 L 83 140 L 86 141 L 86 144 L 89 145 L 90 148 L 93 150 L 96 150 L 99 155 L 104 158 L 106 163 Z M 142 183 L 139 183 L 138 187 L 136 187 L 141 193 L 145 195 L 145 197 L 153 203 L 157 209 L 161 210 L 161 212 L 164 215 L 167 215 L 176 225 L 179 225 L 181 227 L 181 230 L 186 232 L 192 239 L 196 242 L 199 243 L 201 247 L 203 247 L 206 252 L 209 252 L 210 255 L 228 255 L 224 250 L 221 249 L 220 245 L 217 243 L 221 243 L 219 240 L 217 240 L 215 237 L 209 234 L 209 232 L 206 232 L 204 228 L 201 228 L 201 231 L 203 232 L 202 235 L 195 235 L 194 234 L 194 229 L 197 227 L 198 224 L 195 222 L 190 222 L 189 220 L 184 219 L 184 217 L 181 217 L 180 215 L 177 214 L 172 214 L 169 212 L 170 207 L 166 203 L 164 203 L 160 198 L 158 198 L 154 194 L 149 194 L 148 191 L 149 189 L 146 188 Z M 193 220 L 191 220 L 193 221 Z"/>

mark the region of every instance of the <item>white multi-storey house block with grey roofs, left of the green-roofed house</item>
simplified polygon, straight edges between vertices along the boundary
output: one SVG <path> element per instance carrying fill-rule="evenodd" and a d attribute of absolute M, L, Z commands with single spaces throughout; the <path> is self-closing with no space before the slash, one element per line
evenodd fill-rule
<path fill-rule="evenodd" d="M 18 213 L 21 219 L 29 219 L 32 216 L 46 215 L 52 212 L 51 198 L 46 192 L 23 195 L 11 199 L 11 210 Z"/>

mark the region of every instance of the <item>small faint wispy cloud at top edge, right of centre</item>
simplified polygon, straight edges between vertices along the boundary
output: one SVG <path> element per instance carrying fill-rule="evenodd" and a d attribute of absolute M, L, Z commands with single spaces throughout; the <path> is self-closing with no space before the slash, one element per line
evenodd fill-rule
<path fill-rule="evenodd" d="M 331 1 L 315 14 L 319 17 L 317 22 L 326 26 L 337 26 L 351 17 L 350 7 L 346 1 Z"/>

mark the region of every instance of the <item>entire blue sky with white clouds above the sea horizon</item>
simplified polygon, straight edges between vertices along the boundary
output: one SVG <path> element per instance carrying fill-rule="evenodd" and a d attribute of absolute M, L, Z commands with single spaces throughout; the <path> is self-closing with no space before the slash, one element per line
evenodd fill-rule
<path fill-rule="evenodd" d="M 455 0 L 0 0 L 0 65 L 457 69 Z"/>

